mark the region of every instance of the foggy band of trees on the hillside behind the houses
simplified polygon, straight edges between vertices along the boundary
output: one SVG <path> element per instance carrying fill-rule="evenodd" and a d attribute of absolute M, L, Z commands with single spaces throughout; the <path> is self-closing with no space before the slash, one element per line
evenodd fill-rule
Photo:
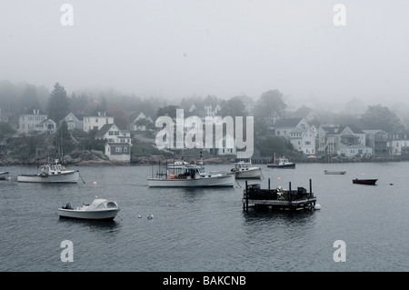
<path fill-rule="evenodd" d="M 0 82 L 0 109 L 2 116 L 8 118 L 8 122 L 0 123 L 0 137 L 9 140 L 11 146 L 20 148 L 19 151 L 23 150 L 27 155 L 34 155 L 35 144 L 38 146 L 45 142 L 41 135 L 22 136 L 23 139 L 15 145 L 14 142 L 17 141 L 11 139 L 18 128 L 18 116 L 25 114 L 29 109 L 38 108 L 57 124 L 53 145 L 64 145 L 62 150 L 65 153 L 75 148 L 102 151 L 105 148 L 105 141 L 95 139 L 97 133 L 95 130 L 86 133 L 75 129 L 74 132 L 67 130 L 65 123 L 60 121 L 69 113 L 82 119 L 85 116 L 95 115 L 98 111 L 105 111 L 108 115 L 114 116 L 115 125 L 128 130 L 135 117 L 144 113 L 152 119 L 153 123 L 147 119 L 141 119 L 136 125 L 145 126 L 151 130 L 147 134 L 155 138 L 155 132 L 160 129 L 155 128 L 157 117 L 168 115 L 175 118 L 178 108 L 184 109 L 185 118 L 190 115 L 203 116 L 205 106 L 211 106 L 212 110 L 217 107 L 218 111 L 215 115 L 222 117 L 253 115 L 254 150 L 261 156 L 289 152 L 292 149 L 292 145 L 275 135 L 272 128 L 274 128 L 274 122 L 292 117 L 295 111 L 314 109 L 317 116 L 309 119 L 308 123 L 316 128 L 320 125 L 354 125 L 361 130 L 374 129 L 384 130 L 389 134 L 409 134 L 407 130 L 409 111 L 402 104 L 391 107 L 364 105 L 359 98 L 355 97 L 344 105 L 323 108 L 324 104 L 308 102 L 308 105 L 305 105 L 302 101 L 296 103 L 294 100 L 296 100 L 294 97 L 291 98 L 290 103 L 290 98 L 285 95 L 285 92 L 276 88 L 267 90 L 259 96 L 234 95 L 223 98 L 216 95 L 191 95 L 164 99 L 156 96 L 142 98 L 134 94 L 126 95 L 114 89 L 75 91 L 65 88 L 64 84 L 59 82 L 49 89 L 42 85 L 2 81 Z M 71 140 L 72 136 L 75 136 L 75 143 Z M 135 141 L 134 145 L 140 146 L 140 141 Z"/>

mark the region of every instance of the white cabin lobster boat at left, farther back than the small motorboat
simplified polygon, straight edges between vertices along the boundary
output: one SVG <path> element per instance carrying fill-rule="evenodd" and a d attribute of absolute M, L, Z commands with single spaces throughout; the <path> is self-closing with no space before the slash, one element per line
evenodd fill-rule
<path fill-rule="evenodd" d="M 78 170 L 68 170 L 59 163 L 58 159 L 55 159 L 55 163 L 41 165 L 39 173 L 34 175 L 18 175 L 17 181 L 22 183 L 76 184 L 78 177 Z"/>

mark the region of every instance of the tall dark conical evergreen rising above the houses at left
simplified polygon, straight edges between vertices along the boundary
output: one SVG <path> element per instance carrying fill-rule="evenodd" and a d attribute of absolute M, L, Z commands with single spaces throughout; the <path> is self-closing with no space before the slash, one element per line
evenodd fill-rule
<path fill-rule="evenodd" d="M 64 86 L 56 83 L 47 104 L 48 117 L 59 123 L 70 112 L 69 98 Z"/>

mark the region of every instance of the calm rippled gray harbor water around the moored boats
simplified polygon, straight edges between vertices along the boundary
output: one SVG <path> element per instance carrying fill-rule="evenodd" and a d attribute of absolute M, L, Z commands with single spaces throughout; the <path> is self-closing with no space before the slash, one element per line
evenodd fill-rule
<path fill-rule="evenodd" d="M 154 189 L 146 183 L 150 166 L 72 166 L 85 181 L 77 185 L 19 184 L 20 166 L 1 167 L 12 180 L 0 181 L 0 271 L 409 269 L 409 163 L 261 166 L 264 179 L 251 183 L 264 188 L 270 178 L 272 187 L 291 182 L 309 189 L 311 178 L 321 210 L 245 213 L 244 181 L 223 189 Z M 324 169 L 347 173 L 324 175 Z M 355 177 L 378 182 L 353 185 Z M 58 218 L 61 205 L 90 203 L 95 195 L 122 207 L 112 223 Z M 74 245 L 74 262 L 61 261 L 65 240 Z M 337 240 L 346 245 L 345 262 L 334 261 Z"/>

